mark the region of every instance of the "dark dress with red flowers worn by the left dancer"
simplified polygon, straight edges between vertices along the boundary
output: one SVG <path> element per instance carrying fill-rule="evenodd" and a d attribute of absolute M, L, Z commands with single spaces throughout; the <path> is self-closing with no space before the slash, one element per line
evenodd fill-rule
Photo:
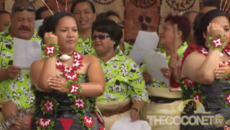
<path fill-rule="evenodd" d="M 85 74 L 78 74 L 80 83 L 87 83 Z M 73 102 L 69 94 L 34 91 L 35 114 L 31 130 L 104 130 L 104 121 L 95 105 L 95 98 L 81 97 Z"/>

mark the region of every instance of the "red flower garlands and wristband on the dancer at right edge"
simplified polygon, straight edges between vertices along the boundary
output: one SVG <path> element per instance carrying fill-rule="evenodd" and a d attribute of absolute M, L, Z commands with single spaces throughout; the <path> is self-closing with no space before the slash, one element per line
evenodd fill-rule
<path fill-rule="evenodd" d="M 205 56 L 207 56 L 208 54 L 208 51 L 203 46 L 200 46 L 197 51 Z M 222 67 L 224 64 L 230 65 L 230 60 L 228 62 L 220 61 L 219 67 Z M 228 76 L 230 77 L 230 74 Z M 218 81 L 218 79 L 216 80 Z M 191 91 L 192 95 L 190 95 L 190 98 L 194 100 L 198 100 L 199 102 L 203 103 L 206 97 L 203 96 L 202 92 L 200 91 L 200 85 L 201 85 L 200 83 L 196 83 L 188 78 L 181 78 L 179 79 L 179 82 L 181 84 L 180 87 L 182 90 L 181 93 L 182 93 L 183 99 L 186 99 L 186 96 L 187 96 L 186 92 Z M 225 94 L 222 94 L 221 97 L 224 100 L 224 106 L 230 107 L 230 91 L 226 92 Z"/>

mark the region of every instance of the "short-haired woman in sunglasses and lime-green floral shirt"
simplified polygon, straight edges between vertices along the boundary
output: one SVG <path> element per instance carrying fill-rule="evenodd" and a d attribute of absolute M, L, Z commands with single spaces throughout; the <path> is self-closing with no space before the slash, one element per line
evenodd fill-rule
<path fill-rule="evenodd" d="M 122 37 L 119 25 L 109 19 L 96 21 L 92 28 L 93 47 L 105 74 L 105 92 L 97 98 L 97 106 L 109 130 L 122 117 L 139 118 L 148 94 L 135 61 L 116 48 Z"/>

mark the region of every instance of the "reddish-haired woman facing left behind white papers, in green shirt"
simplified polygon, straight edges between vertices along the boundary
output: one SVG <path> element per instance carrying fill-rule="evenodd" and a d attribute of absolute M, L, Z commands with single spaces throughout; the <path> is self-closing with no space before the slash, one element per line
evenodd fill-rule
<path fill-rule="evenodd" d="M 187 48 L 187 43 L 185 42 L 190 34 L 190 22 L 187 17 L 183 16 L 172 16 L 168 15 L 165 19 L 165 23 L 162 26 L 163 28 L 159 32 L 159 46 L 161 48 L 157 48 L 155 51 L 156 52 L 161 52 L 166 54 L 166 60 L 167 60 L 167 65 L 168 62 L 173 55 L 173 25 L 177 24 L 178 27 L 178 32 L 176 35 L 176 50 L 180 58 L 183 57 L 183 53 L 185 49 Z M 168 88 L 168 84 L 164 82 L 157 81 L 152 78 L 152 76 L 148 73 L 148 70 L 146 68 L 145 62 L 143 62 L 141 65 L 141 71 L 143 72 L 143 77 L 145 79 L 145 82 L 148 86 L 151 87 L 159 87 L 159 88 Z M 169 68 L 162 68 L 161 69 L 162 74 L 164 75 L 165 78 L 169 79 L 171 75 L 171 71 Z"/>

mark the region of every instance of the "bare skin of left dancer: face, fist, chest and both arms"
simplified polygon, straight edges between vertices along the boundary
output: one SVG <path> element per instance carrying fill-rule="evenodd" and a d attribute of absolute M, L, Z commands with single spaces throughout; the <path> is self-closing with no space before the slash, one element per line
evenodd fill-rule
<path fill-rule="evenodd" d="M 57 38 L 58 37 L 58 38 Z M 71 54 L 74 51 L 78 39 L 77 25 L 73 18 L 63 17 L 58 22 L 55 33 L 45 34 L 45 44 L 57 43 L 61 54 Z M 82 83 L 81 96 L 98 97 L 103 94 L 105 80 L 101 65 L 92 55 L 83 56 L 83 67 L 78 73 L 87 74 L 89 83 Z M 62 62 L 65 66 L 72 66 L 73 57 Z M 67 82 L 57 75 L 62 74 L 56 67 L 56 57 L 35 61 L 31 66 L 31 81 L 39 89 L 45 92 L 53 90 L 67 92 Z M 48 80 L 47 80 L 48 79 Z"/>

